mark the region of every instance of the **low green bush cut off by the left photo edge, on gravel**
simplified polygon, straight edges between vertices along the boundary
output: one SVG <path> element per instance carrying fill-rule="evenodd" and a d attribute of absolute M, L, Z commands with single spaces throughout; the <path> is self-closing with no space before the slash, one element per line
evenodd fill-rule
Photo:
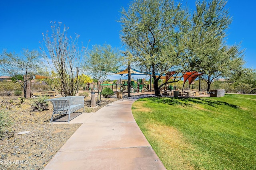
<path fill-rule="evenodd" d="M 13 136 L 12 121 L 5 109 L 0 109 L 0 139 L 4 136 Z"/>

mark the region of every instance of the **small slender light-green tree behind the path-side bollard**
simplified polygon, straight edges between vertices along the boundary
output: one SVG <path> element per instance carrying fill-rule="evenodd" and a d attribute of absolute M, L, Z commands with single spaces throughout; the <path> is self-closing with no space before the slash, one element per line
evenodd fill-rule
<path fill-rule="evenodd" d="M 87 68 L 92 78 L 94 78 L 94 82 L 96 80 L 99 83 L 99 80 L 103 82 L 110 72 L 115 72 L 122 61 L 123 59 L 118 49 L 112 48 L 111 45 L 107 44 L 103 46 L 94 45 L 92 50 L 89 51 Z M 100 88 L 98 87 L 98 102 L 100 102 L 99 94 Z"/>

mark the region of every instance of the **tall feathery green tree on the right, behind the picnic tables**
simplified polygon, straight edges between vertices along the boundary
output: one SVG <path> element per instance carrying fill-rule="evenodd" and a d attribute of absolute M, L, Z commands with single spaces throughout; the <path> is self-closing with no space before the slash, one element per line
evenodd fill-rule
<path fill-rule="evenodd" d="M 203 72 L 207 90 L 215 78 L 228 77 L 242 69 L 243 51 L 240 44 L 225 44 L 226 31 L 232 22 L 226 10 L 225 0 L 204 0 L 196 2 L 192 17 L 192 31 L 188 48 L 191 69 Z"/>

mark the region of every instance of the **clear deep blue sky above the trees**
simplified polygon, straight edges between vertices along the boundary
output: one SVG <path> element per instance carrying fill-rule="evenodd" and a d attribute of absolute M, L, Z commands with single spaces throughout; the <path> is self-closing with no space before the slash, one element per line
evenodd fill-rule
<path fill-rule="evenodd" d="M 182 1 L 182 0 L 181 0 Z M 176 2 L 179 2 L 176 0 Z M 2 0 L 0 2 L 0 53 L 3 49 L 20 53 L 22 49 L 40 51 L 42 33 L 50 30 L 50 21 L 60 21 L 89 49 L 92 45 L 110 44 L 122 48 L 120 18 L 122 7 L 130 0 Z M 183 0 L 191 10 L 195 0 Z M 256 1 L 229 0 L 227 5 L 233 22 L 228 30 L 227 44 L 242 41 L 246 67 L 256 69 Z"/>

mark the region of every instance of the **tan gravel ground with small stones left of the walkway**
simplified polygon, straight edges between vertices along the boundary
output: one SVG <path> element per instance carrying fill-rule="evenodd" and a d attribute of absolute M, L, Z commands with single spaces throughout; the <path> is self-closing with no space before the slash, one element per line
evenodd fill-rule
<path fill-rule="evenodd" d="M 19 104 L 18 96 L 0 96 L 0 108 L 10 113 L 13 122 L 11 134 L 0 139 L 0 169 L 40 170 L 50 161 L 56 152 L 66 143 L 81 124 L 50 124 L 52 104 L 46 111 L 31 111 L 26 99 Z M 90 97 L 85 101 L 85 112 L 95 112 L 103 106 L 116 101 L 116 97 L 102 98 L 97 108 L 90 108 Z M 18 135 L 19 132 L 30 133 Z"/>

